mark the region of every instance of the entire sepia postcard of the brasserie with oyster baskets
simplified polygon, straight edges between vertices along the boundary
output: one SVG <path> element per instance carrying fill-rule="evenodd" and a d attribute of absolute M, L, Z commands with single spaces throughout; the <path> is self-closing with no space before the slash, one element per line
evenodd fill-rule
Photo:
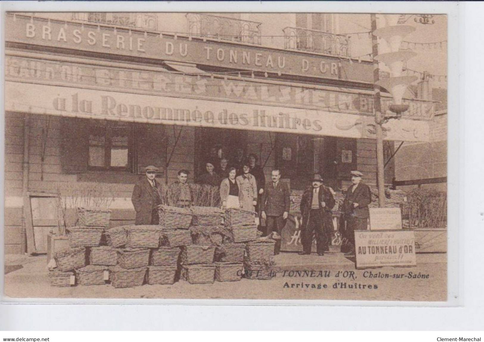
<path fill-rule="evenodd" d="M 447 19 L 6 12 L 3 300 L 446 302 Z"/>

